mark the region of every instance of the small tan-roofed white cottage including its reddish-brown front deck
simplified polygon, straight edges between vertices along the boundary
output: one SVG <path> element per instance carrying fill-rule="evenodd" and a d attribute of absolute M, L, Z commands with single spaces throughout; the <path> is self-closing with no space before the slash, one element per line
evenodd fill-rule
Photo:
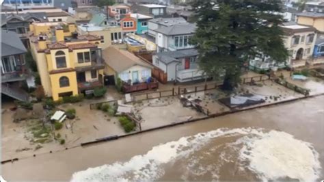
<path fill-rule="evenodd" d="M 129 51 L 108 47 L 103 50 L 108 83 L 114 85 L 121 79 L 124 92 L 135 92 L 157 88 L 157 82 L 151 77 L 152 65 L 148 64 Z"/>

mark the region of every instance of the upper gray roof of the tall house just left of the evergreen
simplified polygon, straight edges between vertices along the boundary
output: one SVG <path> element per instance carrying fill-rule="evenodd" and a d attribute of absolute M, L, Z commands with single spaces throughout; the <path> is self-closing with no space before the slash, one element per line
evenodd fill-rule
<path fill-rule="evenodd" d="M 161 29 L 156 29 L 155 31 L 167 35 L 167 36 L 176 36 L 176 35 L 185 35 L 195 33 L 197 27 L 195 24 L 178 24 L 170 27 L 162 27 Z"/>

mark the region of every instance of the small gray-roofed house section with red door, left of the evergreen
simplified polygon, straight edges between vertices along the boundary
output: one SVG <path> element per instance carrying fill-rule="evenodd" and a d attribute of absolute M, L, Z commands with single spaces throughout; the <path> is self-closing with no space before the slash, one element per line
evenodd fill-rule
<path fill-rule="evenodd" d="M 204 72 L 198 67 L 197 57 L 196 49 L 167 51 L 153 55 L 153 64 L 167 73 L 167 81 L 204 79 Z"/>

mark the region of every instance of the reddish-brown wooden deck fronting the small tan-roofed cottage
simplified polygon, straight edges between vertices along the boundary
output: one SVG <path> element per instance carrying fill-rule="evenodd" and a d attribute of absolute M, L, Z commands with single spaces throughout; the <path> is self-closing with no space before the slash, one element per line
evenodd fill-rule
<path fill-rule="evenodd" d="M 159 82 L 152 77 L 150 79 L 150 82 L 133 83 L 133 85 L 124 81 L 122 82 L 122 92 L 124 93 L 138 92 L 141 90 L 150 90 L 157 88 L 159 88 Z"/>

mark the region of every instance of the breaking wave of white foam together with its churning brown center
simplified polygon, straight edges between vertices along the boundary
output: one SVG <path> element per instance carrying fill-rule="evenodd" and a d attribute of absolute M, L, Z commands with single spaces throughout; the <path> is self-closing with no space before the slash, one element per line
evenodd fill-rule
<path fill-rule="evenodd" d="M 219 144 L 226 139 L 230 140 Z M 177 175 L 184 180 L 199 180 L 200 176 L 218 180 L 222 166 L 231 162 L 238 174 L 248 170 L 264 181 L 284 178 L 315 181 L 321 172 L 319 154 L 312 144 L 293 135 L 265 129 L 217 129 L 154 146 L 145 155 L 136 155 L 124 163 L 75 172 L 71 181 L 158 180 L 170 170 L 166 166 L 177 161 L 185 166 Z M 226 179 L 223 176 L 221 179 Z"/>

